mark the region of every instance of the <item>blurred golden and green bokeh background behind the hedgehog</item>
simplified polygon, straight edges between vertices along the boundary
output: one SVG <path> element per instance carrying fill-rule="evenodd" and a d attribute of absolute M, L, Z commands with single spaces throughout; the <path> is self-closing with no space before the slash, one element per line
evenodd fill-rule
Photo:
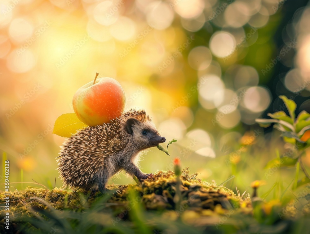
<path fill-rule="evenodd" d="M 178 156 L 201 179 L 235 175 L 226 186 L 242 192 L 256 179 L 288 185 L 294 169 L 264 169 L 288 146 L 255 118 L 284 110 L 283 94 L 309 111 L 309 22 L 304 0 L 1 0 L 0 150 L 11 183 L 62 186 L 65 138 L 53 125 L 98 72 L 121 83 L 126 108 L 146 109 L 178 140 L 170 157 L 144 155 L 144 172 L 172 169 Z"/>

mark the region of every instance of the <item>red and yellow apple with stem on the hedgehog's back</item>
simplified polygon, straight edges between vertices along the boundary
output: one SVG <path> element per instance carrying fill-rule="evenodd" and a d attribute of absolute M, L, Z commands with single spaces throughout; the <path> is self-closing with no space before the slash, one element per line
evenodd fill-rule
<path fill-rule="evenodd" d="M 119 117 L 125 108 L 125 93 L 113 78 L 98 78 L 83 85 L 73 96 L 73 110 L 88 126 L 101 125 Z"/>

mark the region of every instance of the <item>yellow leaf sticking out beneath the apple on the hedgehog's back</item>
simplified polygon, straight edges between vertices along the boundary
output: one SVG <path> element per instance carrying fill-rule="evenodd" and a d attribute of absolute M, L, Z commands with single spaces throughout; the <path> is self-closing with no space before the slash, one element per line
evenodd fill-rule
<path fill-rule="evenodd" d="M 78 130 L 85 127 L 87 127 L 87 125 L 82 123 L 75 113 L 68 113 L 56 119 L 53 133 L 63 137 L 70 137 L 72 134 L 77 133 Z"/>

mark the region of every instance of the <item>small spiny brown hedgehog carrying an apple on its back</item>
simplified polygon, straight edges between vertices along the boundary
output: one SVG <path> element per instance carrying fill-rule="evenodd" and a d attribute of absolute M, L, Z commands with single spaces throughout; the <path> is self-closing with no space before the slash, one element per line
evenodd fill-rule
<path fill-rule="evenodd" d="M 108 180 L 121 170 L 143 182 L 153 174 L 137 167 L 140 153 L 165 141 L 144 110 L 130 109 L 72 135 L 61 147 L 57 169 L 66 186 L 85 191 L 106 191 Z"/>

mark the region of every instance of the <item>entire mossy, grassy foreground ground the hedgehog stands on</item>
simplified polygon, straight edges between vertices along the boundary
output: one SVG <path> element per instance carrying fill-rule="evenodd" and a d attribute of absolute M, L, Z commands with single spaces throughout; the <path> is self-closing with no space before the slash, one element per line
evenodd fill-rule
<path fill-rule="evenodd" d="M 158 171 L 143 183 L 108 189 L 105 194 L 33 187 L 10 192 L 10 233 L 259 233 L 265 228 L 294 233 L 294 225 L 307 229 L 309 223 L 296 209 L 283 212 L 278 200 L 251 201 L 249 194 L 241 197 L 201 181 L 188 168 L 179 177 Z M 5 197 L 0 196 L 0 233 Z"/>

